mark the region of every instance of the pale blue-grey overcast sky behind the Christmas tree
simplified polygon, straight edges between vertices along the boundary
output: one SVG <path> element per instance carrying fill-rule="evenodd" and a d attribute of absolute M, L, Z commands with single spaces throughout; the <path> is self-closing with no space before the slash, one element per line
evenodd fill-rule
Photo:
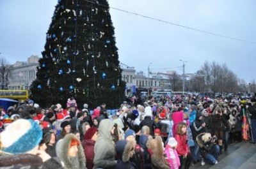
<path fill-rule="evenodd" d="M 1 0 L 0 57 L 11 64 L 26 61 L 30 55 L 42 57 L 45 33 L 57 3 Z M 186 73 L 195 73 L 205 61 L 216 61 L 227 64 L 246 82 L 256 79 L 254 0 L 109 0 L 109 6 L 119 60 L 136 71 L 147 75 L 152 62 L 150 71 L 182 73 L 181 59 L 187 61 Z"/>

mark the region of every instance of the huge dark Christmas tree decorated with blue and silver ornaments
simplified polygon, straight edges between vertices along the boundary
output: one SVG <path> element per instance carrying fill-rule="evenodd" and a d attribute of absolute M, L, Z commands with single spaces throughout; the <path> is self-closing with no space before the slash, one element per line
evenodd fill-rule
<path fill-rule="evenodd" d="M 39 60 L 31 99 L 41 107 L 73 97 L 82 107 L 124 101 L 114 27 L 106 0 L 59 0 Z"/>

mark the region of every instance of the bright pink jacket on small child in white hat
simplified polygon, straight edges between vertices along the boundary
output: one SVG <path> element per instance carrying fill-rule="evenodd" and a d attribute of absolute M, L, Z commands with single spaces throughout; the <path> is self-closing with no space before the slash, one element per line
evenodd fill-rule
<path fill-rule="evenodd" d="M 172 149 L 169 145 L 166 145 L 164 154 L 166 154 L 166 160 L 169 163 L 170 169 L 179 169 L 180 159 L 177 151 Z"/>

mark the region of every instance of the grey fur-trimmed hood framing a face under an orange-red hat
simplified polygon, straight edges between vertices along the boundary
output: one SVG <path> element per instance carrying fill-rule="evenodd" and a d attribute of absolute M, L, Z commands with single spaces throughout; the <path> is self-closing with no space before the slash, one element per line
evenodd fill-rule
<path fill-rule="evenodd" d="M 77 145 L 77 161 L 78 164 L 74 164 L 73 161 L 76 160 L 72 160 L 70 157 L 68 157 L 68 149 L 70 147 L 70 142 L 72 139 L 76 139 L 79 142 L 79 145 Z M 81 145 L 80 140 L 76 137 L 76 135 L 69 133 L 67 135 L 65 135 L 64 138 L 62 138 L 61 140 L 59 140 L 57 142 L 56 145 L 56 154 L 58 156 L 58 158 L 60 158 L 61 163 L 64 163 L 64 168 L 67 169 L 82 169 L 85 168 L 85 164 L 86 164 L 86 159 L 84 156 L 84 150 L 83 150 L 83 146 Z"/>

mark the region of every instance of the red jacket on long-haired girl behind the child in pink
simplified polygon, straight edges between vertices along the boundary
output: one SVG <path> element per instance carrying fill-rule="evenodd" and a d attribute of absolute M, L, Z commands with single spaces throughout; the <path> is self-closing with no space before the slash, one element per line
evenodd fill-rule
<path fill-rule="evenodd" d="M 175 140 L 177 141 L 177 152 L 179 156 L 184 156 L 189 153 L 189 147 L 187 143 L 187 135 L 175 135 Z"/>

